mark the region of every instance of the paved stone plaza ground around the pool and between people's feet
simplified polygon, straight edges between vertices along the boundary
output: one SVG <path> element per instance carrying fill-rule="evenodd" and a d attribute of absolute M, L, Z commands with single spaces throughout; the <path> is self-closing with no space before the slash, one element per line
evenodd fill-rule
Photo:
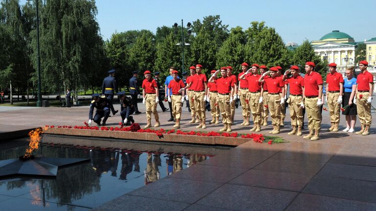
<path fill-rule="evenodd" d="M 143 127 L 146 124 L 144 105 L 139 103 L 139 109 L 143 113 L 134 115 L 134 119 Z M 196 124 L 188 124 L 190 113 L 187 109 L 183 107 L 181 129 L 198 131 Z M 172 129 L 174 122 L 167 122 L 169 112 L 162 112 L 160 107 L 158 111 L 161 127 Z M 20 134 L 20 131 L 44 125 L 83 125 L 88 120 L 88 112 L 89 106 L 0 106 L 1 139 L 6 139 L 6 134 L 12 132 Z M 278 134 L 286 143 L 247 142 L 95 210 L 376 210 L 375 121 L 368 136 L 326 132 L 329 112 L 323 111 L 320 140 L 310 141 L 304 140 L 303 136 L 287 135 L 291 127 L 288 109 L 286 112 L 285 127 Z M 206 114 L 210 121 L 210 112 Z M 107 121 L 109 126 L 117 126 L 119 122 L 119 114 Z M 233 131 L 249 133 L 251 126 L 244 129 L 241 122 L 239 107 L 235 110 Z M 268 123 L 261 133 L 267 134 L 272 129 L 270 118 Z M 344 125 L 345 118 L 341 115 L 340 130 Z M 218 131 L 222 127 L 220 124 L 207 126 L 205 131 Z M 359 128 L 357 121 L 356 130 Z M 307 133 L 305 129 L 303 135 Z"/>

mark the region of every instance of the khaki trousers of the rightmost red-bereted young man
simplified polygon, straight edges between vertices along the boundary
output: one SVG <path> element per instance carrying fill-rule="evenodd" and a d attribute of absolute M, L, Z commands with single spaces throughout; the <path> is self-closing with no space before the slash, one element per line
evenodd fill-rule
<path fill-rule="evenodd" d="M 359 98 L 359 95 L 363 95 Z M 358 117 L 361 125 L 371 126 L 372 116 L 371 116 L 371 104 L 367 103 L 369 92 L 357 92 L 356 93 L 356 110 L 358 112 Z"/>

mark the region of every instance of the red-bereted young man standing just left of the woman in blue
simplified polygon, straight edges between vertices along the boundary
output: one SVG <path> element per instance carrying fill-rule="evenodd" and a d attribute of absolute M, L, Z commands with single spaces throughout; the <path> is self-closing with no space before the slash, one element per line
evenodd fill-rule
<path fill-rule="evenodd" d="M 342 105 L 342 93 L 343 93 L 343 77 L 341 73 L 337 72 L 337 64 L 329 63 L 330 73 L 327 75 L 327 98 L 330 116 L 330 127 L 327 130 L 337 132 L 340 118 L 340 108 Z"/>

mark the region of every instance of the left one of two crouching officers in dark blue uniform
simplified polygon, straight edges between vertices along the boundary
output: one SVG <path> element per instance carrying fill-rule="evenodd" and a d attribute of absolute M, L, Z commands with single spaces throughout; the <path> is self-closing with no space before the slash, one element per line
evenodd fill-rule
<path fill-rule="evenodd" d="M 94 121 L 98 126 L 106 125 L 106 121 L 110 116 L 110 108 L 109 108 L 109 100 L 104 95 L 100 94 L 93 94 L 93 100 L 90 104 L 89 110 L 89 125 L 92 125 L 92 121 Z M 95 115 L 93 118 L 94 107 L 96 108 Z M 101 119 L 103 118 L 102 124 L 100 124 Z"/>

